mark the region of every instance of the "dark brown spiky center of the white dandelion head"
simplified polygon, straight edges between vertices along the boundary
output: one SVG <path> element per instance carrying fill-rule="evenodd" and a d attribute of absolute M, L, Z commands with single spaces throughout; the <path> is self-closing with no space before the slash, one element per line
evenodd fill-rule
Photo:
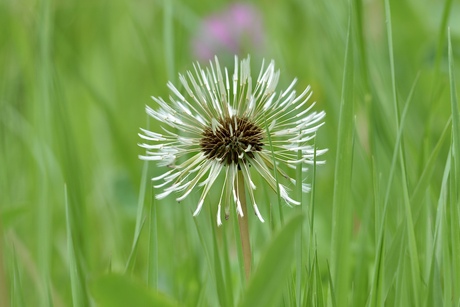
<path fill-rule="evenodd" d="M 201 150 L 208 159 L 218 159 L 221 163 L 247 163 L 254 153 L 262 150 L 262 129 L 245 117 L 225 117 L 218 120 L 213 131 L 208 127 L 203 131 Z"/>

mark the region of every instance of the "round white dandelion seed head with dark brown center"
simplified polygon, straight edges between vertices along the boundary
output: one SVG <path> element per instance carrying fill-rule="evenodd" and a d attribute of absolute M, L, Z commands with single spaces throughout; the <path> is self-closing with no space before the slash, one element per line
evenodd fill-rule
<path fill-rule="evenodd" d="M 200 189 L 195 216 L 220 177 L 223 187 L 218 189 L 217 224 L 222 224 L 223 206 L 226 218 L 232 204 L 237 214 L 244 216 L 244 188 L 263 222 L 254 195 L 256 182 L 260 182 L 254 176 L 259 176 L 288 205 L 298 205 L 289 196 L 289 185 L 297 182 L 288 175 L 287 168 L 313 163 L 315 149 L 309 143 L 324 124 L 325 116 L 323 111 L 312 111 L 314 103 L 307 105 L 312 95 L 310 86 L 297 95 L 294 80 L 277 93 L 279 70 L 275 70 L 274 61 L 266 67 L 262 62 L 253 82 L 249 57 L 241 62 L 235 57 L 232 74 L 221 68 L 216 57 L 206 68 L 195 64 L 194 71 L 180 74 L 179 80 L 183 92 L 169 82 L 169 103 L 152 97 L 159 109 L 146 107 L 147 114 L 163 124 L 163 132 L 141 129 L 139 134 L 146 141 L 140 144 L 146 149 L 140 158 L 169 167 L 152 178 L 157 182 L 155 188 L 162 189 L 156 197 L 162 199 L 175 193 L 177 201 L 182 201 Z M 316 150 L 316 155 L 325 151 Z M 300 184 L 308 192 L 309 185 Z"/>

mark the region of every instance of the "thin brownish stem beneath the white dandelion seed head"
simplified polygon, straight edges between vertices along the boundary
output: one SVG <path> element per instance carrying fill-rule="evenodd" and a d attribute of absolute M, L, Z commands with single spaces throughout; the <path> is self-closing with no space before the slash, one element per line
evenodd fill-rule
<path fill-rule="evenodd" d="M 244 214 L 244 216 L 238 218 L 238 226 L 240 228 L 241 247 L 243 250 L 244 272 L 246 273 L 246 280 L 248 280 L 251 273 L 252 255 L 251 243 L 249 242 L 248 209 L 246 205 L 244 177 L 241 171 L 238 172 L 238 198 Z"/>

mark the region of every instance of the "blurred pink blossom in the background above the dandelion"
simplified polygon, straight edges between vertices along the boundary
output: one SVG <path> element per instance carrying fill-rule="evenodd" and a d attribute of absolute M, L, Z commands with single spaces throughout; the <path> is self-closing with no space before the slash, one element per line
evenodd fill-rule
<path fill-rule="evenodd" d="M 254 53 L 263 46 L 264 33 L 259 11 L 251 5 L 233 3 L 203 19 L 192 40 L 195 56 L 209 60 L 216 54 Z"/>

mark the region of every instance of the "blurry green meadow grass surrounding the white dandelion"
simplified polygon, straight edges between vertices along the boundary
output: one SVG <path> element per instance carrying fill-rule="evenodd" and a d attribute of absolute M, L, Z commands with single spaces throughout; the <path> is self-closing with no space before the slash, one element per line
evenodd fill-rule
<path fill-rule="evenodd" d="M 312 85 L 329 151 L 298 208 L 256 182 L 247 282 L 219 189 L 193 217 L 199 192 L 155 200 L 164 170 L 138 159 L 150 96 L 227 4 L 188 2 L 1 2 L 0 305 L 458 306 L 458 2 L 252 2 L 265 46 L 244 52 Z"/>

